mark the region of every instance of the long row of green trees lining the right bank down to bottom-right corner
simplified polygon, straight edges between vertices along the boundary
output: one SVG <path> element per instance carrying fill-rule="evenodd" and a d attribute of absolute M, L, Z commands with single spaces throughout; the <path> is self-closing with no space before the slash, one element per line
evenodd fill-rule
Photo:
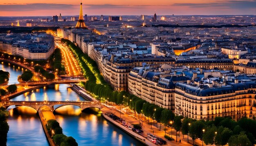
<path fill-rule="evenodd" d="M 81 53 L 81 50 L 72 42 L 68 40 L 63 40 L 63 42 L 66 42 L 70 46 L 74 54 L 76 54 L 79 64 L 83 64 L 83 68 L 86 68 L 86 70 L 83 71 L 92 73 L 92 69 L 88 67 L 88 64 L 92 62 L 83 60 L 85 54 Z M 197 121 L 182 116 L 175 116 L 171 110 L 161 108 L 155 104 L 150 104 L 135 95 L 130 95 L 125 91 L 113 91 L 109 86 L 106 86 L 106 84 L 97 84 L 96 77 L 90 77 L 92 74 L 87 76 L 87 73 L 85 73 L 84 75 L 87 77 L 88 81 L 81 82 L 81 86 L 90 93 L 96 95 L 99 100 L 114 102 L 115 104 L 120 105 L 120 107 L 121 105 L 128 106 L 134 113 L 137 113 L 138 116 L 141 114 L 142 117 L 143 114 L 148 117 L 148 122 L 149 117 L 155 119 L 160 123 L 160 128 L 161 123 L 165 126 L 171 126 L 179 133 L 182 131 L 184 135 L 189 134 L 193 140 L 196 138 L 203 138 L 206 144 L 213 144 L 213 142 L 216 145 L 225 145 L 229 142 L 229 145 L 231 146 L 233 146 L 232 144 L 236 145 L 238 143 L 248 145 L 255 144 L 254 137 L 256 137 L 256 123 L 252 119 L 243 118 L 240 121 L 235 122 L 230 118 L 217 117 L 214 121 Z M 249 128 L 250 126 L 251 128 Z M 236 129 L 234 130 L 235 127 Z M 203 132 L 203 129 L 205 133 Z M 227 134 L 230 136 L 225 136 Z M 231 141 L 234 141 L 235 143 L 232 143 Z"/>

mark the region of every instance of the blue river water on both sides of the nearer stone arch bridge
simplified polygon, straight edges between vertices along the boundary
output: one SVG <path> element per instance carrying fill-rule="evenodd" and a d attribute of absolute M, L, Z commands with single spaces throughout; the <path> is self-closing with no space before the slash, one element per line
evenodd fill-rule
<path fill-rule="evenodd" d="M 11 73 L 10 73 L 11 74 Z M 19 95 L 12 100 L 44 101 L 69 100 L 85 101 L 83 97 L 67 88 L 67 84 L 46 86 Z M 140 146 L 142 145 L 130 135 L 124 133 L 115 125 L 106 121 L 97 108 L 81 112 L 78 106 L 63 106 L 54 112 L 56 120 L 63 128 L 63 133 L 76 139 L 79 146 Z M 48 142 L 40 123 L 39 116 L 33 108 L 10 106 L 7 122 L 10 130 L 7 135 L 7 145 L 16 146 L 48 146 Z"/>

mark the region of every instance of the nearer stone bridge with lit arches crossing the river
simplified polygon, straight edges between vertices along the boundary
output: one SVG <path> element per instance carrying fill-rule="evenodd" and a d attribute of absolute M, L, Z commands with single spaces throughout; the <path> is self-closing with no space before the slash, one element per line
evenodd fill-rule
<path fill-rule="evenodd" d="M 99 102 L 87 102 L 87 101 L 6 101 L 2 102 L 2 105 L 4 108 L 8 108 L 9 106 L 28 106 L 31 108 L 34 108 L 36 111 L 38 111 L 43 106 L 48 106 L 51 111 L 56 110 L 54 109 L 54 105 L 60 105 L 58 108 L 62 106 L 67 105 L 74 105 L 79 106 L 81 108 L 81 111 L 83 111 L 85 108 L 99 108 L 101 109 L 101 104 Z"/>

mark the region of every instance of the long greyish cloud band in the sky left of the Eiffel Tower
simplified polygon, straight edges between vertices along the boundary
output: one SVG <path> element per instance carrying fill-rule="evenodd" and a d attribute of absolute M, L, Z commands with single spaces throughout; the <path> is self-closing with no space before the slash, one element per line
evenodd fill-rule
<path fill-rule="evenodd" d="M 59 10 L 73 9 L 76 7 L 72 4 L 47 4 L 47 3 L 32 3 L 32 4 L 0 4 L 0 11 L 37 11 L 37 10 Z"/>

